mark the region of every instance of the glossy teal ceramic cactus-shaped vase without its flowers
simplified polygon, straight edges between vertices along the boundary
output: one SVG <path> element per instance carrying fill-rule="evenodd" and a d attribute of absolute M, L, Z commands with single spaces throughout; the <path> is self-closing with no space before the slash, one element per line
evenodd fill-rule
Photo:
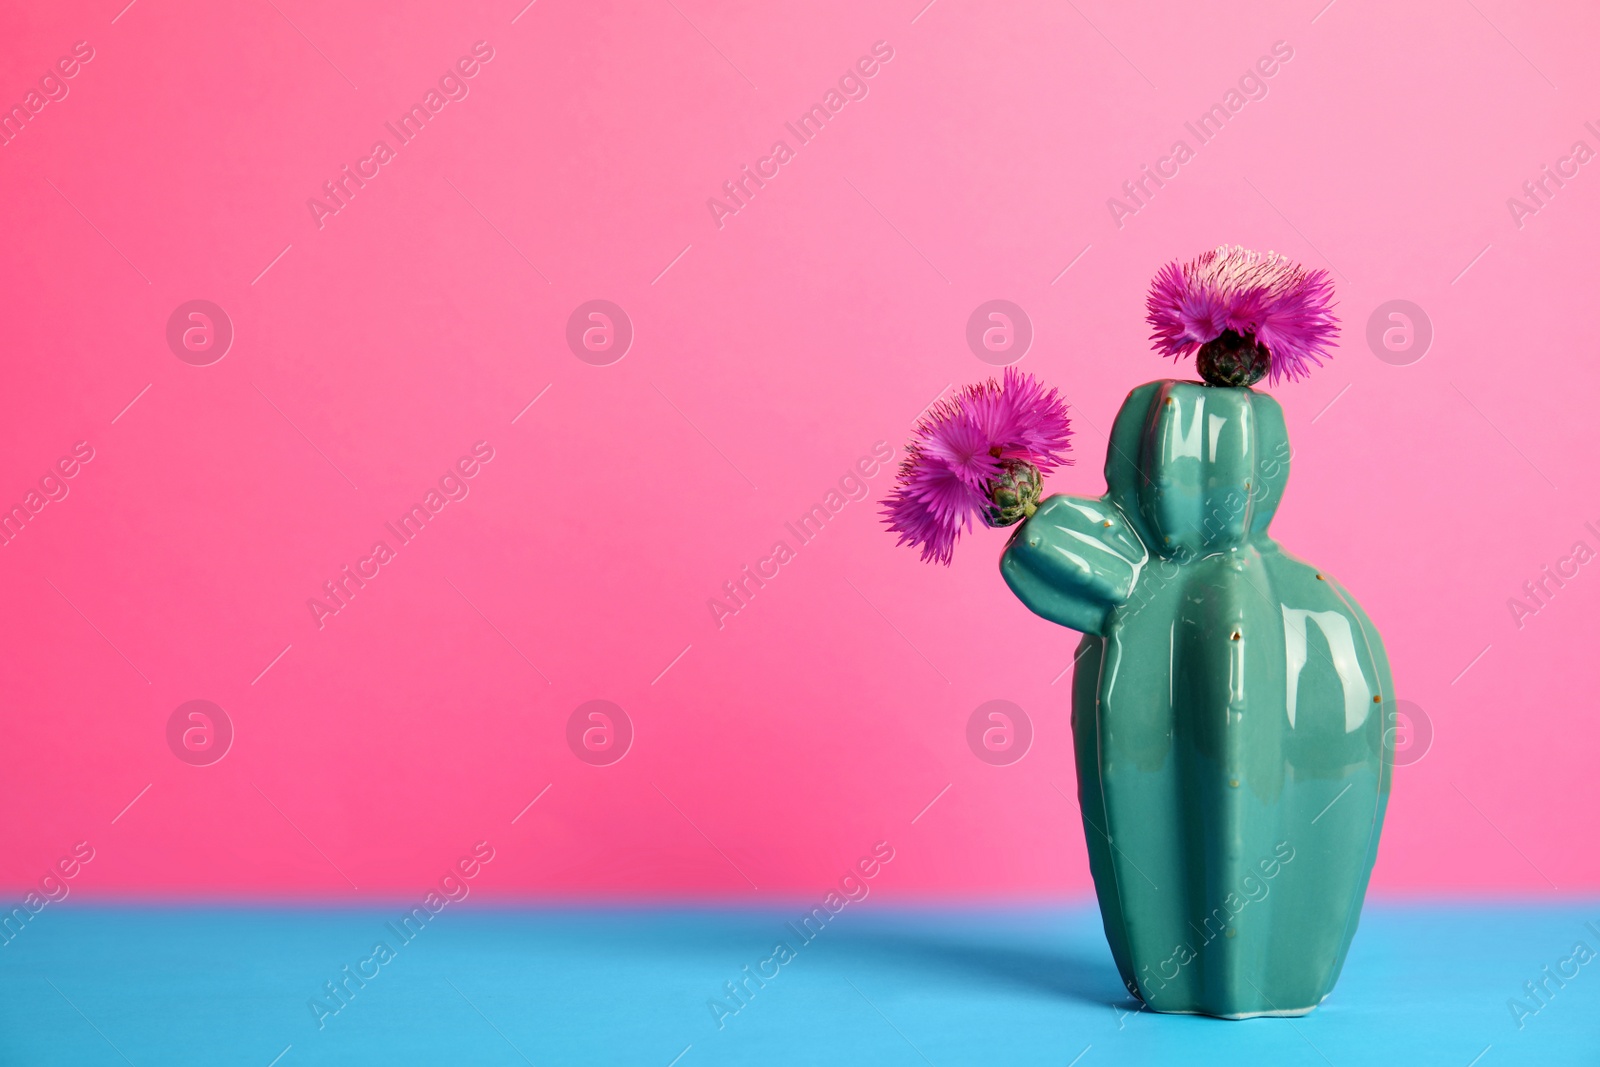
<path fill-rule="evenodd" d="M 1000 569 L 1083 632 L 1078 805 L 1106 937 L 1152 1011 L 1299 1016 L 1339 979 L 1394 773 L 1382 640 L 1267 534 L 1283 410 L 1158 381 L 1117 414 L 1102 498 L 1051 496 Z"/>

